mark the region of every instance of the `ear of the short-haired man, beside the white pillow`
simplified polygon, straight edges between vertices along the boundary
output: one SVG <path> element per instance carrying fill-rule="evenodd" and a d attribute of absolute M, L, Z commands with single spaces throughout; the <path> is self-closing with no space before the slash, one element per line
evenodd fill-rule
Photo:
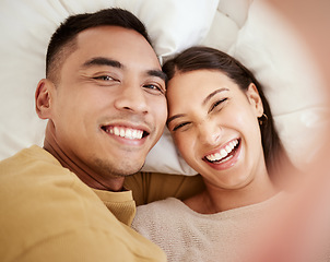
<path fill-rule="evenodd" d="M 35 106 L 36 112 L 42 119 L 50 119 L 54 90 L 54 83 L 47 79 L 40 80 L 37 85 L 35 93 Z"/>

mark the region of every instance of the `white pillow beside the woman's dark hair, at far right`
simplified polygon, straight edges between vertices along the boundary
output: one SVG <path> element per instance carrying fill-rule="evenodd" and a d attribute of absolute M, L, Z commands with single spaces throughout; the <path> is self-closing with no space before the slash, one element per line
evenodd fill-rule
<path fill-rule="evenodd" d="M 304 168 L 320 150 L 329 116 L 326 85 L 304 40 L 264 1 L 255 0 L 228 52 L 264 86 L 284 146 Z"/>

